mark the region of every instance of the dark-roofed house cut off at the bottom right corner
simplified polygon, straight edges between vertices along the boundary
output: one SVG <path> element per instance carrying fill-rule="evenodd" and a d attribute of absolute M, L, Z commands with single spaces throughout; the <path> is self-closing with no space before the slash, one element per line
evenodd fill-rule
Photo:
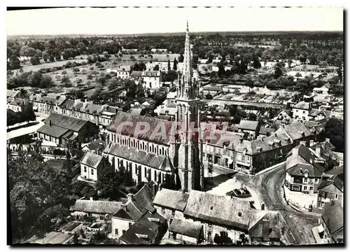
<path fill-rule="evenodd" d="M 344 209 L 339 202 L 325 203 L 318 235 L 327 244 L 344 243 Z"/>

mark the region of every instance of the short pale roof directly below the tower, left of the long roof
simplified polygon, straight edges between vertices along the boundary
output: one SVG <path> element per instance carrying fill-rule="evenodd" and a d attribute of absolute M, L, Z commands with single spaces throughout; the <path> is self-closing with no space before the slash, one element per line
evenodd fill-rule
<path fill-rule="evenodd" d="M 153 204 L 167 207 L 168 209 L 183 211 L 186 207 L 189 196 L 188 193 L 162 188 L 162 190 L 158 191 L 155 195 Z"/>

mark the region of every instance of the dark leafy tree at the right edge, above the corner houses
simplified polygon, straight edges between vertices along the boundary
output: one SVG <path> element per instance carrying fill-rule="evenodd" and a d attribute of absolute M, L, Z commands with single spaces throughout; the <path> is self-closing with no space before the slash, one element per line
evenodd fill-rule
<path fill-rule="evenodd" d="M 335 146 L 335 151 L 344 152 L 344 121 L 337 118 L 330 118 L 325 123 L 323 137 L 330 139 L 330 143 Z"/>

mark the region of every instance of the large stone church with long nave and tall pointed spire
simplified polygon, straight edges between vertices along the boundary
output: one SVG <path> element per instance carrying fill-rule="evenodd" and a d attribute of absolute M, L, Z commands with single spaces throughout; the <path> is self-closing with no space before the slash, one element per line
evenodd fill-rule
<path fill-rule="evenodd" d="M 191 131 L 193 127 L 200 128 L 200 99 L 188 22 L 183 57 L 183 69 L 176 85 L 175 122 L 119 112 L 106 128 L 108 144 L 104 156 L 116 170 L 125 167 L 137 183 L 154 181 L 161 185 L 170 178 L 176 189 L 190 192 L 204 190 L 204 167 L 200 133 Z M 142 125 L 149 128 L 142 129 Z M 154 137 L 159 125 L 164 136 Z M 183 125 L 179 134 L 172 134 L 174 125 Z"/>

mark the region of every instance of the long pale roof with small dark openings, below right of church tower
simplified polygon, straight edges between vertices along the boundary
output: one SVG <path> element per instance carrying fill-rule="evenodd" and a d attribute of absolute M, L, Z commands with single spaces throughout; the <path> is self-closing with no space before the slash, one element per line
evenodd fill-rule
<path fill-rule="evenodd" d="M 250 210 L 250 203 L 246 200 L 228 200 L 225 196 L 191 190 L 183 214 L 218 225 L 248 230 Z"/>

